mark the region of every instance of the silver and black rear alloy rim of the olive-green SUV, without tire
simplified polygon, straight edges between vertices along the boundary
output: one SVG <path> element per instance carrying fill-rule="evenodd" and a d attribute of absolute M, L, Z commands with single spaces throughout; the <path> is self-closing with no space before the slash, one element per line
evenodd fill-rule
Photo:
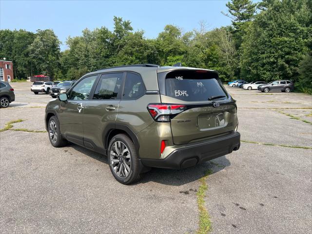
<path fill-rule="evenodd" d="M 125 178 L 129 175 L 131 171 L 130 151 L 123 142 L 114 142 L 111 147 L 110 159 L 112 168 L 118 177 Z"/>

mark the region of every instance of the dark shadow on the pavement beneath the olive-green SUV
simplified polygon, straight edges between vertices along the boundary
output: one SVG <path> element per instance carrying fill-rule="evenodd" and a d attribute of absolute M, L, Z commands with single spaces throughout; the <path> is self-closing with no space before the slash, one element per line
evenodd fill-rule
<path fill-rule="evenodd" d="M 79 151 L 80 153 L 86 156 L 90 156 L 108 165 L 107 156 L 85 149 L 76 144 L 71 143 L 69 146 L 73 147 L 75 150 Z M 216 173 L 230 165 L 231 165 L 230 161 L 225 156 L 221 156 L 213 159 L 212 161 L 198 164 L 194 167 L 186 169 L 171 170 L 171 169 L 152 168 L 151 171 L 144 173 L 144 175 L 137 182 L 137 184 L 141 183 L 144 184 L 153 181 L 165 185 L 180 186 L 200 179 L 202 176 L 205 175 L 205 173 L 208 170 L 212 170 L 213 173 Z"/>

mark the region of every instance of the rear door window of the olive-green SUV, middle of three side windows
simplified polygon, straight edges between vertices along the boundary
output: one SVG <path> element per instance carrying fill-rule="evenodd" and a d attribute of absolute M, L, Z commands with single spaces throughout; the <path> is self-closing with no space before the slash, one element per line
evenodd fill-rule
<path fill-rule="evenodd" d="M 93 99 L 116 99 L 122 84 L 123 73 L 103 74 L 98 81 Z"/>

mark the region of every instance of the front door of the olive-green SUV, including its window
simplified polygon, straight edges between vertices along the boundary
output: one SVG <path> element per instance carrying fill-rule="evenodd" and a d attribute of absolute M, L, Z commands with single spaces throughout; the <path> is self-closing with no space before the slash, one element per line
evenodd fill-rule
<path fill-rule="evenodd" d="M 83 146 L 83 111 L 98 75 L 81 79 L 68 93 L 67 101 L 59 107 L 61 133 L 71 142 Z"/>

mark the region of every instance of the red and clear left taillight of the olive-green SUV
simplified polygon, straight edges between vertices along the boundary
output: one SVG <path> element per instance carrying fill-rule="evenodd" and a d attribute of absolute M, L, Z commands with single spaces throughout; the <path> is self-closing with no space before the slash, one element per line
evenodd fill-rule
<path fill-rule="evenodd" d="M 147 110 L 156 122 L 170 122 L 170 118 L 186 109 L 186 105 L 179 104 L 149 104 L 147 106 Z"/>

